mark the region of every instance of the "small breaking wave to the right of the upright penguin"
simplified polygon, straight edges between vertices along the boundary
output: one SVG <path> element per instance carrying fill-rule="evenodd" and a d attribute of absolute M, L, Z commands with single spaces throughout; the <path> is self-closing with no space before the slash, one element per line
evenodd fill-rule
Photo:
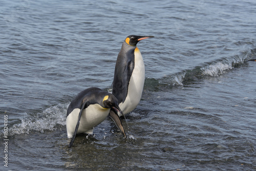
<path fill-rule="evenodd" d="M 183 86 L 184 84 L 193 83 L 206 76 L 217 77 L 223 75 L 226 71 L 234 68 L 239 68 L 248 59 L 255 57 L 256 49 L 249 49 L 241 54 L 234 55 L 227 58 L 208 62 L 206 65 L 197 66 L 193 70 L 184 70 L 176 74 L 170 74 L 160 79 L 147 78 L 146 83 L 157 86 Z M 152 85 L 145 85 L 145 87 L 152 87 Z"/>

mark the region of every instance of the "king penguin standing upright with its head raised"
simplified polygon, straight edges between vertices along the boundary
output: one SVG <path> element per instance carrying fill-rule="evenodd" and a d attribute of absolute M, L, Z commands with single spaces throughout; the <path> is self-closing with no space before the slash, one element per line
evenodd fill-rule
<path fill-rule="evenodd" d="M 145 66 L 136 45 L 140 40 L 151 37 L 154 36 L 127 36 L 117 56 L 112 94 L 117 98 L 123 114 L 133 111 L 141 99 Z M 113 112 L 115 111 L 111 110 L 112 115 Z M 118 115 L 121 116 L 121 113 Z"/>

